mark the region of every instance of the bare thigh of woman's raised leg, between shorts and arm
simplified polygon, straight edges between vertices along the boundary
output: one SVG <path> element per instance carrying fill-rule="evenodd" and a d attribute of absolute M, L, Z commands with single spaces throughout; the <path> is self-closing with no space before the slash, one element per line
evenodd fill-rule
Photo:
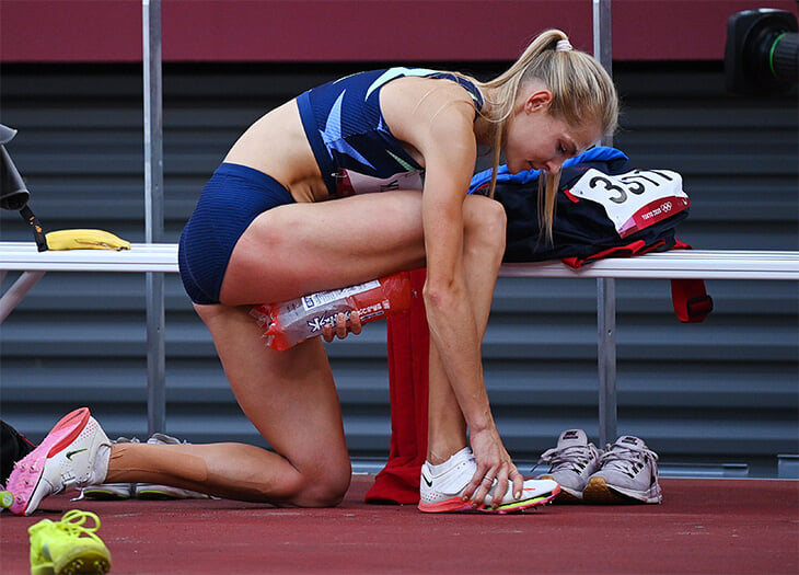
<path fill-rule="evenodd" d="M 220 300 L 283 301 L 425 265 L 421 194 L 364 194 L 259 215 L 236 243 Z"/>

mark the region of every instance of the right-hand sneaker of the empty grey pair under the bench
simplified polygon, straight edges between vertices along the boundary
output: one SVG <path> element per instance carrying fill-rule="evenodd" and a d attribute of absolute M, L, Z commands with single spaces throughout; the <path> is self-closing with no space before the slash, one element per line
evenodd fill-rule
<path fill-rule="evenodd" d="M 619 437 L 600 458 L 582 492 L 586 503 L 660 503 L 658 455 L 642 439 Z"/>

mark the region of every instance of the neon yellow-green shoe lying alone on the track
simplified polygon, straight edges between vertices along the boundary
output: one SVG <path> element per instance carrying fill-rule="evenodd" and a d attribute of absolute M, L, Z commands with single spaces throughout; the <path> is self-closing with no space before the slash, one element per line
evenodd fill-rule
<path fill-rule="evenodd" d="M 94 519 L 94 527 L 83 527 L 90 517 Z M 108 573 L 111 552 L 95 534 L 97 529 L 100 518 L 80 509 L 67 511 L 60 521 L 43 519 L 28 527 L 31 575 Z"/>

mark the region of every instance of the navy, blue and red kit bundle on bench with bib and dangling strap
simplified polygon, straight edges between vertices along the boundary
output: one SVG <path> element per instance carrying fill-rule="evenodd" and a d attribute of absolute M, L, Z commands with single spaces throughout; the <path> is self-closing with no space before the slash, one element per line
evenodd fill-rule
<path fill-rule="evenodd" d="M 691 205 L 676 172 L 633 169 L 626 154 L 607 147 L 567 160 L 552 242 L 541 233 L 539 176 L 537 170 L 511 174 L 507 166 L 497 172 L 494 197 L 508 217 L 505 262 L 560 260 L 578 268 L 603 257 L 691 249 L 674 237 Z M 490 177 L 490 170 L 476 174 L 470 192 L 486 192 Z M 700 279 L 672 280 L 672 299 L 682 322 L 700 322 L 713 310 Z"/>

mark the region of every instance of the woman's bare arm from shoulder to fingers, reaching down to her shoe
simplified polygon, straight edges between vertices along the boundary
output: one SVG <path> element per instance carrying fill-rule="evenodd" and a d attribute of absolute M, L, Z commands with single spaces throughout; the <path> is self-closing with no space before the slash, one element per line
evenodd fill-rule
<path fill-rule="evenodd" d="M 399 130 L 425 162 L 422 225 L 427 254 L 424 297 L 430 337 L 470 429 L 477 473 L 466 491 L 480 503 L 484 474 L 509 475 L 514 492 L 522 478 L 510 461 L 494 423 L 480 359 L 480 335 L 463 268 L 463 203 L 476 158 L 474 107 L 458 87 L 424 92 Z"/>

